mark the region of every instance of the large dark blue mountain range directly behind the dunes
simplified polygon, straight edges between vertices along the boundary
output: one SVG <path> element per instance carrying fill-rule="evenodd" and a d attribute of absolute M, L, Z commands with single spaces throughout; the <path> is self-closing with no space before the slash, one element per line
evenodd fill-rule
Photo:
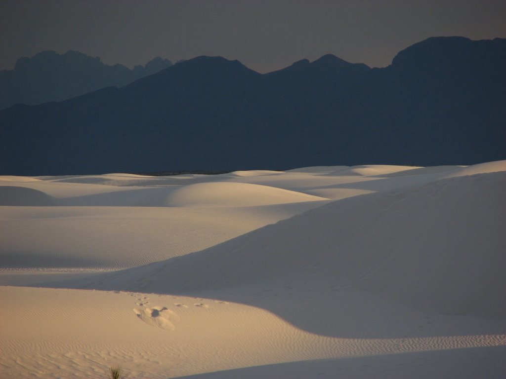
<path fill-rule="evenodd" d="M 119 88 L 3 110 L 0 174 L 500 160 L 505 68 L 500 38 L 432 37 L 385 68 L 325 55 L 260 74 L 197 57 Z"/>

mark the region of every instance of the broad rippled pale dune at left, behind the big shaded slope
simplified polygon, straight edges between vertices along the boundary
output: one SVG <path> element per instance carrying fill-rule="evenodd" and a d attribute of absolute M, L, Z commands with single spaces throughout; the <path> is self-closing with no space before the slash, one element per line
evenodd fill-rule
<path fill-rule="evenodd" d="M 134 267 L 214 246 L 318 205 L 4 207 L 0 212 L 0 261 L 4 268 L 23 272 Z M 9 277 L 14 275 L 9 272 Z M 6 283 L 6 275 L 0 275 L 0 282 Z"/>

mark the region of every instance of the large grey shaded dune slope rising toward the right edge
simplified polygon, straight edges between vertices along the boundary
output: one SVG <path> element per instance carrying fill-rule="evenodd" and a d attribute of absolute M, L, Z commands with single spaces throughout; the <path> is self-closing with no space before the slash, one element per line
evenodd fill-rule
<path fill-rule="evenodd" d="M 445 314 L 506 317 L 506 212 L 498 206 L 505 188 L 499 172 L 345 199 L 108 276 L 102 288 L 172 293 L 276 280 L 351 286 Z"/>

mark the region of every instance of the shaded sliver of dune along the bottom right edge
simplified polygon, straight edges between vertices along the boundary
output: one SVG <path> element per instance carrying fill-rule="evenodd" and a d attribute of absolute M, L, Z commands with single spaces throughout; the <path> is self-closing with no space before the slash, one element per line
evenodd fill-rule
<path fill-rule="evenodd" d="M 353 377 L 360 379 L 390 379 L 393 377 L 427 379 L 456 377 L 476 379 L 481 377 L 501 377 L 506 370 L 504 364 L 484 364 L 477 362 L 500 362 L 506 348 L 499 349 L 452 349 L 400 353 L 366 357 L 318 359 L 295 361 L 266 366 L 252 366 L 235 370 L 188 375 L 185 379 L 307 379 Z M 458 366 L 455 362 L 459 362 Z M 454 367 L 449 371 L 448 366 Z M 183 378 L 183 377 L 180 377 Z"/>

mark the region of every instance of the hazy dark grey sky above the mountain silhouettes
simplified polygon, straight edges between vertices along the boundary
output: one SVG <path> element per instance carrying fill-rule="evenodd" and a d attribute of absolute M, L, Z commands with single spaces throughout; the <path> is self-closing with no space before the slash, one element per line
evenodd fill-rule
<path fill-rule="evenodd" d="M 505 0 L 0 0 L 0 69 L 43 50 L 133 67 L 161 56 L 269 72 L 331 53 L 371 67 L 431 36 L 506 37 Z"/>

